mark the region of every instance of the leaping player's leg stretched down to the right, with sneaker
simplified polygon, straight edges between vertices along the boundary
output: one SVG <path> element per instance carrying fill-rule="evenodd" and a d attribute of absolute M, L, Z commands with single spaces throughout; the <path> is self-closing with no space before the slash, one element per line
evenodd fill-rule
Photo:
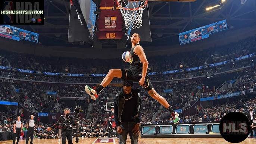
<path fill-rule="evenodd" d="M 160 96 L 155 90 L 153 85 L 151 84 L 149 78 L 146 76 L 145 82 L 142 88 L 145 88 L 149 95 L 157 100 L 160 104 L 162 104 L 166 109 L 171 112 L 172 119 L 174 120 L 174 124 L 179 122 L 179 114 L 175 112 L 169 105 L 169 103 L 165 100 L 164 97 Z"/>

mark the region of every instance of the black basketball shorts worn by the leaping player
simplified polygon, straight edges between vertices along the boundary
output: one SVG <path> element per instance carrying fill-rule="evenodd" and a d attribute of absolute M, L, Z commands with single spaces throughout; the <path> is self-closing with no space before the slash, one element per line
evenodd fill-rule
<path fill-rule="evenodd" d="M 121 79 L 124 79 L 124 80 L 128 79 L 131 81 L 139 82 L 141 79 L 141 73 L 131 71 L 130 69 L 128 69 L 128 70 L 122 69 Z M 154 88 L 153 85 L 151 84 L 148 76 L 145 77 L 145 81 L 144 81 L 142 88 L 145 88 L 147 91 L 150 91 Z"/>

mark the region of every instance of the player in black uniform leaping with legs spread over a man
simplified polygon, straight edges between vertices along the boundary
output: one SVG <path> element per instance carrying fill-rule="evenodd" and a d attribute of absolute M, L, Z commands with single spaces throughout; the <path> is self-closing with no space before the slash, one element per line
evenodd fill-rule
<path fill-rule="evenodd" d="M 103 79 L 102 83 L 97 89 L 95 87 L 90 88 L 88 87 L 88 85 L 85 85 L 85 91 L 87 94 L 91 96 L 93 100 L 96 100 L 100 92 L 103 90 L 103 88 L 109 85 L 114 77 L 121 78 L 124 80 L 129 79 L 132 81 L 139 82 L 142 88 L 145 88 L 151 97 L 159 101 L 159 103 L 161 103 L 166 109 L 168 109 L 171 112 L 171 116 L 174 120 L 174 124 L 176 124 L 179 122 L 179 114 L 170 107 L 170 105 L 165 100 L 165 98 L 163 98 L 158 93 L 156 93 L 156 91 L 154 90 L 154 87 L 149 81 L 149 76 L 147 75 L 148 73 L 147 68 L 148 68 L 149 62 L 147 62 L 144 49 L 139 44 L 139 42 L 140 42 L 140 35 L 137 33 L 134 33 L 131 37 L 132 48 L 129 56 L 130 66 L 128 70 L 110 69 L 106 77 Z"/>

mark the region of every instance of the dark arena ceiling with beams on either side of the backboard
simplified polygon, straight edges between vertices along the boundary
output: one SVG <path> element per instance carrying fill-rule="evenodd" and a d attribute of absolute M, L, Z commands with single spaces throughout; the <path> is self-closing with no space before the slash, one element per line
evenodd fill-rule
<path fill-rule="evenodd" d="M 241 5 L 240 0 L 226 0 L 221 6 L 209 10 L 221 0 L 197 0 L 195 2 L 149 1 L 149 18 L 152 43 L 178 44 L 178 33 L 203 25 L 227 19 L 228 26 L 238 28 L 254 25 L 256 21 L 256 1 L 247 0 Z M 44 45 L 79 46 L 68 44 L 69 0 L 44 0 L 44 25 L 17 25 L 40 34 Z M 236 24 L 239 24 L 235 26 Z M 45 43 L 47 41 L 47 43 Z M 85 44 L 82 47 L 87 47 Z"/>

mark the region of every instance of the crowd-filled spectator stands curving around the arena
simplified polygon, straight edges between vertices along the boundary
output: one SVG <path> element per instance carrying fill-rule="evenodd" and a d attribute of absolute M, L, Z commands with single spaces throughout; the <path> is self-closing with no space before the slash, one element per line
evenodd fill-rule
<path fill-rule="evenodd" d="M 214 50 L 202 50 L 200 52 L 192 51 L 178 53 L 171 56 L 148 57 L 150 63 L 149 71 L 171 71 L 174 69 L 192 68 L 210 63 L 222 62 L 235 57 L 254 53 L 255 48 L 255 38 L 251 37 L 247 40 L 241 40 L 238 43 L 214 48 Z M 1 61 L 1 66 L 44 72 L 107 73 L 109 69 L 122 69 L 128 66 L 120 59 L 82 60 L 64 57 L 40 57 L 9 51 L 1 51 L 0 56 L 5 59 L 4 61 Z M 179 59 L 179 57 L 182 57 L 182 59 Z M 253 84 L 256 83 L 255 62 L 256 58 L 238 60 L 234 63 L 216 66 L 214 68 L 205 68 L 200 71 L 181 72 L 168 75 L 152 75 L 150 76 L 150 80 L 153 82 L 155 90 L 166 98 L 173 109 L 184 109 L 191 106 L 199 98 L 216 96 L 214 87 L 218 88 L 224 82 L 237 79 L 238 76 L 240 76 L 240 81 L 231 88 L 217 90 L 217 95 L 234 93 L 252 88 Z M 208 75 L 211 75 L 212 78 L 207 78 Z M 77 101 L 77 106 L 84 111 L 87 111 L 89 103 L 93 104 L 91 116 L 89 116 L 88 119 L 82 119 L 80 122 L 85 129 L 92 129 L 95 124 L 103 125 L 103 127 L 106 126 L 108 116 L 112 115 L 111 113 L 106 112 L 105 107 L 106 102 L 110 101 L 109 93 L 118 93 L 122 88 L 113 85 L 107 86 L 96 101 L 91 101 L 90 98 L 87 100 L 88 95 L 85 93 L 84 84 L 92 83 L 91 85 L 96 85 L 102 81 L 103 77 L 79 78 L 74 76 L 47 76 L 36 73 L 28 75 L 26 73 L 3 69 L 0 70 L 0 76 L 1 78 L 15 79 L 14 83 L 4 81 L 0 83 L 1 101 L 18 102 L 29 110 L 51 113 L 53 110 L 59 110 L 59 112 L 62 112 L 65 107 L 69 107 L 72 110 L 75 109 L 74 104 L 67 103 L 64 100 L 57 100 L 54 96 L 46 98 L 45 96 L 47 91 L 56 91 L 57 97 L 85 98 L 86 100 Z M 114 82 L 122 82 L 122 80 L 113 79 L 112 83 Z M 138 84 L 135 84 L 134 88 L 141 89 Z M 15 89 L 18 89 L 19 91 L 16 92 Z M 163 90 L 166 89 L 174 90 L 172 97 L 163 93 Z M 200 94 L 198 94 L 198 92 L 200 92 Z M 19 98 L 16 94 L 19 95 Z M 148 96 L 145 90 L 142 90 L 140 94 L 142 96 L 141 122 L 143 124 L 151 124 L 153 123 L 153 118 L 158 118 L 161 123 L 165 124 L 168 119 L 159 118 L 161 115 L 165 114 L 167 110 L 162 108 L 162 110 L 159 111 L 161 107 L 160 103 Z M 188 101 L 190 101 L 190 104 L 186 105 Z M 201 107 L 196 115 L 188 115 L 188 118 L 191 119 L 191 122 L 201 122 L 203 115 L 206 114 L 211 121 L 219 121 L 224 113 L 239 111 L 241 109 L 244 113 L 247 113 L 246 106 L 256 107 L 256 98 L 255 96 L 245 96 L 243 99 L 235 99 L 232 103 Z M 184 118 L 185 116 L 181 115 L 181 123 L 184 122 Z M 11 123 L 15 119 L 13 112 L 4 113 L 1 110 L 0 119 L 0 125 L 9 125 L 9 130 L 11 131 Z M 25 122 L 25 120 L 26 119 L 23 119 L 23 122 Z M 53 123 L 49 123 L 46 125 L 52 124 Z M 35 137 L 37 137 L 37 135 L 35 135 Z"/>

